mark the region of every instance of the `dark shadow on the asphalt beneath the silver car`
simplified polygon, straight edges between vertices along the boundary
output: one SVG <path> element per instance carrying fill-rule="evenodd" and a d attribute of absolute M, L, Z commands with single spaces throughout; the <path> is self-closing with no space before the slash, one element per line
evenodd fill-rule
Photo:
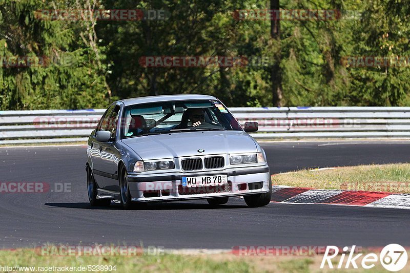
<path fill-rule="evenodd" d="M 122 210 L 120 204 L 111 203 L 110 206 L 91 206 L 88 202 L 77 203 L 45 203 L 46 206 L 51 207 L 65 207 L 65 208 L 81 208 L 81 209 L 93 209 L 93 210 Z M 135 211 L 167 211 L 173 209 L 227 209 L 227 208 L 247 208 L 247 205 L 209 205 L 199 203 L 180 203 L 180 202 L 164 202 L 164 203 L 151 203 L 146 207 L 133 209 Z"/>

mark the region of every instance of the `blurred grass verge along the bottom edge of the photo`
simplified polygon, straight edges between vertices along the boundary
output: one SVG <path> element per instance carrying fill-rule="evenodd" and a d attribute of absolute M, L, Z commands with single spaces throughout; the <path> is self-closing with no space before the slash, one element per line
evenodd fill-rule
<path fill-rule="evenodd" d="M 373 253 L 374 251 L 363 249 L 363 253 Z M 375 252 L 379 256 L 379 251 Z M 359 266 L 359 269 L 330 269 L 327 264 L 324 269 L 320 269 L 323 256 L 294 256 L 294 257 L 269 257 L 269 256 L 249 256 L 238 257 L 230 253 L 208 254 L 208 255 L 173 255 L 163 256 L 109 256 L 109 257 L 90 257 L 90 256 L 40 256 L 32 248 L 17 250 L 0 250 L 0 266 L 34 266 L 34 267 L 65 267 L 65 266 L 88 266 L 88 265 L 111 265 L 116 266 L 116 270 L 111 272 L 284 272 L 284 273 L 308 273 L 308 272 L 369 272 Z M 341 256 L 332 259 L 334 267 L 337 267 Z M 361 263 L 359 257 L 357 264 Z M 345 264 L 345 263 L 344 263 Z M 372 272 L 385 272 L 379 262 L 375 263 Z M 410 271 L 410 263 L 402 269 L 403 272 Z M 0 270 L 0 272 L 5 272 Z M 16 272 L 54 272 L 54 271 L 16 271 Z M 63 271 L 61 271 L 63 272 Z M 75 270 L 74 272 L 80 272 Z M 83 270 L 82 272 L 90 272 Z M 110 271 L 94 271 L 110 272 Z"/>

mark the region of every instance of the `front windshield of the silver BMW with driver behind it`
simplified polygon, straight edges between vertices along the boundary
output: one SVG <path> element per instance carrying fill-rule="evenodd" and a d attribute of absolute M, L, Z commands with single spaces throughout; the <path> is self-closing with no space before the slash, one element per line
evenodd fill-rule
<path fill-rule="evenodd" d="M 192 131 L 242 131 L 218 100 L 163 101 L 124 109 L 121 138 Z"/>

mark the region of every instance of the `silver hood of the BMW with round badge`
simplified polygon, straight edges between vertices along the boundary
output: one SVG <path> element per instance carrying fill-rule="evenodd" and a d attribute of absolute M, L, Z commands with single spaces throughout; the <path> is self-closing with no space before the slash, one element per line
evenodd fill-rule
<path fill-rule="evenodd" d="M 254 140 L 241 131 L 200 131 L 122 139 L 142 160 L 183 156 L 256 153 Z M 202 149 L 204 152 L 199 153 Z"/>

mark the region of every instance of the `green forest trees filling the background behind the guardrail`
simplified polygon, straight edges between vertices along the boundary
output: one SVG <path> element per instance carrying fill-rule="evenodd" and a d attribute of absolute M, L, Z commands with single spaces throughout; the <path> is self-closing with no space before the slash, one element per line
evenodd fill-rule
<path fill-rule="evenodd" d="M 409 67 L 348 67 L 346 56 L 410 56 L 404 0 L 281 0 L 281 9 L 339 10 L 338 20 L 237 20 L 260 0 L 0 0 L 0 56 L 47 56 L 46 66 L 0 67 L 0 110 L 105 108 L 117 98 L 210 94 L 232 107 L 272 105 L 280 51 L 286 106 L 408 106 Z M 41 20 L 40 9 L 166 10 L 167 20 Z M 79 6 L 77 6 L 79 5 Z M 94 32 L 95 29 L 95 32 Z M 141 56 L 248 56 L 246 67 L 146 68 Z"/>

